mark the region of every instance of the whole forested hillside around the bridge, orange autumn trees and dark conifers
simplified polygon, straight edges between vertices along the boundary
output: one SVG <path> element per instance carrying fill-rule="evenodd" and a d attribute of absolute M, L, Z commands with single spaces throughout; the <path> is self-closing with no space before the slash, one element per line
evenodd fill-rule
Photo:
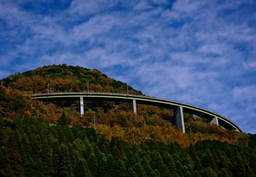
<path fill-rule="evenodd" d="M 81 116 L 79 101 L 43 103 L 26 96 L 48 92 L 48 83 L 49 92 L 127 93 L 126 83 L 96 69 L 53 65 L 0 81 L 0 176 L 256 174 L 256 135 L 186 113 L 183 134 L 172 124 L 172 110 L 155 106 L 138 105 L 134 115 L 128 103 L 84 101 Z M 132 86 L 128 92 L 142 95 Z"/>

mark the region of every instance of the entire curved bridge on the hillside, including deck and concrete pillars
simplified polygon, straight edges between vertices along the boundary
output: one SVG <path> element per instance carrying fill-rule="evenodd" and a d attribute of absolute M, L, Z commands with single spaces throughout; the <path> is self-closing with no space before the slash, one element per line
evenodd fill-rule
<path fill-rule="evenodd" d="M 221 125 L 225 129 L 242 130 L 231 120 L 219 115 L 211 110 L 206 110 L 195 105 L 189 105 L 182 102 L 155 98 L 150 96 L 132 95 L 123 93 L 105 93 L 105 92 L 55 92 L 55 93 L 37 93 L 30 94 L 32 99 L 42 101 L 56 100 L 79 100 L 81 105 L 81 115 L 84 114 L 84 100 L 101 100 L 101 101 L 119 101 L 130 103 L 130 110 L 137 114 L 136 103 L 143 105 L 154 105 L 173 109 L 174 124 L 178 129 L 185 132 L 183 111 L 206 118 L 208 122 Z"/>

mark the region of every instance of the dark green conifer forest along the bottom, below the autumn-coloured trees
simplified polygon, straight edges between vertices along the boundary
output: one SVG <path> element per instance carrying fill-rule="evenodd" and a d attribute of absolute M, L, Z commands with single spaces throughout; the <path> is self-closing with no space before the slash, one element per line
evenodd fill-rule
<path fill-rule="evenodd" d="M 255 141 L 251 142 L 252 144 Z M 93 128 L 38 117 L 0 117 L 1 177 L 255 177 L 255 150 L 216 140 L 129 144 Z"/>

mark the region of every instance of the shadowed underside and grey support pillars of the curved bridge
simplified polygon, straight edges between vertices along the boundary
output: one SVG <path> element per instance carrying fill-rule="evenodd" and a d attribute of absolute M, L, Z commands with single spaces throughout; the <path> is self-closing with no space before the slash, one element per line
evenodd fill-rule
<path fill-rule="evenodd" d="M 127 102 L 130 103 L 130 110 L 134 112 L 134 114 L 137 114 L 136 104 L 142 104 L 142 105 L 153 105 L 158 107 L 163 107 L 167 109 L 172 109 L 174 112 L 174 124 L 177 128 L 181 129 L 183 132 L 185 132 L 184 127 L 184 120 L 183 120 L 183 111 L 186 113 L 190 113 L 193 115 L 197 115 L 200 117 L 203 117 L 211 123 L 219 124 L 225 129 L 236 129 L 232 124 L 230 120 L 222 120 L 218 119 L 216 115 L 209 114 L 205 111 L 197 110 L 192 107 L 186 107 L 181 106 L 178 104 L 167 104 L 166 101 L 153 101 L 153 100 L 146 100 L 146 99 L 136 99 L 129 96 L 123 96 L 123 97 L 114 97 L 114 96 L 44 96 L 43 98 L 39 97 L 36 98 L 37 100 L 42 101 L 69 101 L 69 100 L 80 100 L 81 105 L 81 115 L 84 113 L 84 101 L 113 101 L 113 102 Z M 158 99 L 156 99 L 158 100 Z M 215 120 L 215 121 L 212 121 Z M 241 131 L 241 129 L 238 129 L 238 131 Z"/>

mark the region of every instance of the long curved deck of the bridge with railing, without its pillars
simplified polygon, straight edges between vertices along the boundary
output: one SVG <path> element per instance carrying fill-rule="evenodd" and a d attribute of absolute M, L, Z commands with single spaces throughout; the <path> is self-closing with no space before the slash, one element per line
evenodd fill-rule
<path fill-rule="evenodd" d="M 145 105 L 155 105 L 170 109 L 176 109 L 178 106 L 182 106 L 184 112 L 191 113 L 193 115 L 198 115 L 200 117 L 211 120 L 217 117 L 219 124 L 225 129 L 236 129 L 241 132 L 241 129 L 231 120 L 227 119 L 223 115 L 220 115 L 211 110 L 207 110 L 196 105 L 189 105 L 187 103 L 182 103 L 173 100 L 166 100 L 162 98 L 156 98 L 151 96 L 143 95 L 133 95 L 133 94 L 123 94 L 123 93 L 107 93 L 107 92 L 54 92 L 54 93 L 37 93 L 30 94 L 32 99 L 39 99 L 44 101 L 54 101 L 54 100 L 79 100 L 80 97 L 84 97 L 84 100 L 101 100 L 101 101 L 120 101 L 120 102 L 130 102 L 131 100 L 136 100 L 138 104 Z"/>

